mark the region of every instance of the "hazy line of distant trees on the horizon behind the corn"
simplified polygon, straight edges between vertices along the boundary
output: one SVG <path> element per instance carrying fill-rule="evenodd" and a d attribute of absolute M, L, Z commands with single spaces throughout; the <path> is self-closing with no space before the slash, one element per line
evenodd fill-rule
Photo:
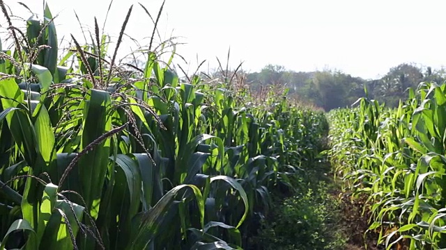
<path fill-rule="evenodd" d="M 262 88 L 288 88 L 288 95 L 323 108 L 350 106 L 358 98 L 364 97 L 364 87 L 368 97 L 398 106 L 400 99 L 407 98 L 408 88 L 417 88 L 422 82 L 443 83 L 446 69 L 419 67 L 413 63 L 402 63 L 392 67 L 385 76 L 378 79 L 364 79 L 351 76 L 336 69 L 316 72 L 294 72 L 280 65 L 266 65 L 260 72 L 247 73 L 245 81 L 252 92 Z"/>

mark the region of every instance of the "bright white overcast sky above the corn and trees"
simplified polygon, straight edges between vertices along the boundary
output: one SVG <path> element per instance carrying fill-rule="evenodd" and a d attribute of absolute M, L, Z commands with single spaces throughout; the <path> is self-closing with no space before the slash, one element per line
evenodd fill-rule
<path fill-rule="evenodd" d="M 5 2 L 15 15 L 29 17 L 16 0 Z M 35 12 L 43 9 L 42 0 L 22 2 Z M 156 17 L 160 0 L 139 2 Z M 93 26 L 95 16 L 102 26 L 109 5 L 108 0 L 47 3 L 53 15 L 59 13 L 59 38 L 73 33 L 79 40 L 73 10 L 82 23 Z M 136 0 L 114 0 L 105 31 L 117 37 L 132 3 L 126 33 L 146 44 L 141 39 L 151 35 L 153 24 Z M 183 37 L 178 42 L 187 44 L 178 53 L 190 60 L 190 71 L 197 55 L 213 68 L 215 56 L 225 61 L 231 47 L 232 68 L 245 61 L 243 69 L 251 72 L 271 63 L 294 71 L 330 67 L 376 78 L 400 63 L 446 65 L 445 7 L 441 0 L 167 0 L 159 28 L 164 38 Z M 130 49 L 127 41 L 124 51 Z"/>

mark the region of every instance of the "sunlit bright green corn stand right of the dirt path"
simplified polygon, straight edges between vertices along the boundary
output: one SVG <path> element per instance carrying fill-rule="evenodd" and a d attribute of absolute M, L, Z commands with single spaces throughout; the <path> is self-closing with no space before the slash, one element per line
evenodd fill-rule
<path fill-rule="evenodd" d="M 446 85 L 420 83 L 396 109 L 362 98 L 333 110 L 329 151 L 386 249 L 446 248 Z"/>

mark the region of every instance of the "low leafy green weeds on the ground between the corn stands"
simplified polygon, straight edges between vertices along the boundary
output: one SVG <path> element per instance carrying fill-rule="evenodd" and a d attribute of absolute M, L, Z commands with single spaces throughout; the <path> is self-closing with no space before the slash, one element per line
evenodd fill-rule
<path fill-rule="evenodd" d="M 293 190 L 276 190 L 256 238 L 261 249 L 346 249 L 341 201 L 325 154 L 302 163 Z"/>

